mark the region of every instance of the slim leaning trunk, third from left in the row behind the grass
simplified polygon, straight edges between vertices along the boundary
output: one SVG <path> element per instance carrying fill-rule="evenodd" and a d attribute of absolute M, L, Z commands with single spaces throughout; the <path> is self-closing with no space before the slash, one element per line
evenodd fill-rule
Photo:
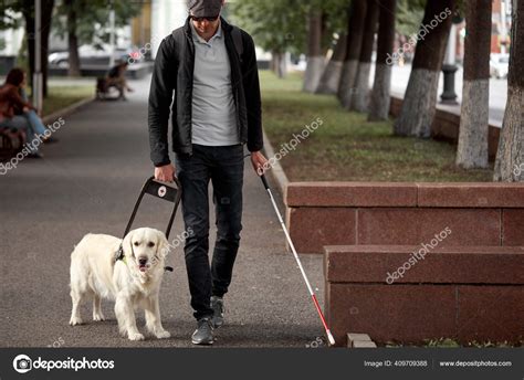
<path fill-rule="evenodd" d="M 352 104 L 352 95 L 355 91 L 355 76 L 360 56 L 364 20 L 366 19 L 367 0 L 353 0 L 349 8 L 347 22 L 347 48 L 344 65 L 342 67 L 340 83 L 338 85 L 338 98 L 345 108 Z"/>

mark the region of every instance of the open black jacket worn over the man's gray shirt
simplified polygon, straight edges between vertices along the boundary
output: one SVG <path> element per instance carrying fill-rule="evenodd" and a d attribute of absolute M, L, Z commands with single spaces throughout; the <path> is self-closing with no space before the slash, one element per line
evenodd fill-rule
<path fill-rule="evenodd" d="M 177 154 L 192 154 L 191 105 L 195 67 L 195 44 L 189 25 L 175 30 L 165 38 L 155 59 L 149 89 L 149 145 L 156 167 L 170 163 L 168 148 L 168 119 L 171 112 L 172 149 Z M 237 127 L 240 141 L 250 151 L 263 147 L 259 72 L 253 39 L 240 30 L 241 56 L 231 35 L 233 28 L 221 19 L 226 49 L 231 63 L 231 86 L 237 105 Z M 175 98 L 174 98 L 175 93 Z"/>

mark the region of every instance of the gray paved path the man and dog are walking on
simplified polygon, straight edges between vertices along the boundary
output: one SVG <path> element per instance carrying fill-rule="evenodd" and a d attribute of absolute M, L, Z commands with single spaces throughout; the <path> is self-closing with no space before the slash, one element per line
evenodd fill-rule
<path fill-rule="evenodd" d="M 143 182 L 153 175 L 146 124 L 149 77 L 130 85 L 136 92 L 129 102 L 93 103 L 64 117 L 60 141 L 44 146 L 44 159 L 24 160 L 0 176 L 2 347 L 191 347 L 196 324 L 181 247 L 168 257 L 175 272 L 165 274 L 161 289 L 170 339 L 120 338 L 108 302 L 103 304 L 107 321 L 91 321 L 90 304 L 83 309 L 86 325 L 67 325 L 73 244 L 88 232 L 119 236 Z M 322 326 L 248 159 L 245 169 L 241 249 L 226 296 L 226 326 L 217 331 L 214 346 L 305 347 L 323 335 Z M 145 200 L 140 211 L 134 228 L 165 228 L 166 203 Z M 179 212 L 171 240 L 182 229 Z M 212 244 L 214 230 L 211 236 Z M 322 257 L 302 258 L 322 299 Z M 138 323 L 144 325 L 142 313 Z"/>

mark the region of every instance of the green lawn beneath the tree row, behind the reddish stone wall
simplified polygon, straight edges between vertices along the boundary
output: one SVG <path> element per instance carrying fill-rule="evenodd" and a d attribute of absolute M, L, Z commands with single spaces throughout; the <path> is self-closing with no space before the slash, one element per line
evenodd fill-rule
<path fill-rule="evenodd" d="M 294 73 L 279 80 L 261 71 L 263 124 L 275 152 L 321 118 L 324 123 L 281 160 L 292 181 L 491 181 L 493 171 L 454 166 L 448 142 L 392 136 L 392 120 L 368 123 L 335 96 L 303 93 Z"/>

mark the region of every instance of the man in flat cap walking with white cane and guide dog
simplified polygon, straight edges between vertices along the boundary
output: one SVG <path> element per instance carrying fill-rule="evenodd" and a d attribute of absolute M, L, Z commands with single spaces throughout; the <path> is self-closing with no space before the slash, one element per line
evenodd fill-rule
<path fill-rule="evenodd" d="M 189 0 L 182 28 L 163 40 L 149 93 L 149 139 L 155 178 L 182 186 L 185 257 L 197 329 L 191 341 L 213 342 L 223 324 L 223 295 L 231 283 L 242 229 L 243 146 L 255 170 L 263 147 L 254 43 L 221 17 L 223 0 Z M 175 99 L 172 94 L 175 92 Z M 171 105 L 172 102 L 172 105 Z M 171 107 L 170 107 L 171 106 Z M 169 159 L 172 112 L 176 169 Z M 208 257 L 208 184 L 213 187 L 217 241 Z"/>

